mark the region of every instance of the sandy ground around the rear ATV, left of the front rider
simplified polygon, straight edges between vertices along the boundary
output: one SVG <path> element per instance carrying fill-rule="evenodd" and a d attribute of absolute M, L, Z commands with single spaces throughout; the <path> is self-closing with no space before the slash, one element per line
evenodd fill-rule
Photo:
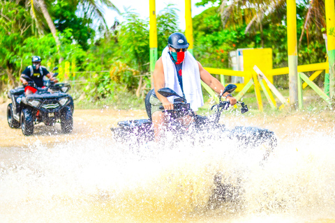
<path fill-rule="evenodd" d="M 75 109 L 73 114 L 73 132 L 61 133 L 61 125 L 46 126 L 43 123 L 35 125 L 34 134 L 25 137 L 22 130 L 12 129 L 8 126 L 6 117 L 7 104 L 0 105 L 0 147 L 25 146 L 34 144 L 36 140 L 42 143 L 57 143 L 71 139 L 84 139 L 87 137 L 110 137 L 111 127 L 118 121 L 145 118 L 144 111 L 115 111 L 110 109 Z"/>

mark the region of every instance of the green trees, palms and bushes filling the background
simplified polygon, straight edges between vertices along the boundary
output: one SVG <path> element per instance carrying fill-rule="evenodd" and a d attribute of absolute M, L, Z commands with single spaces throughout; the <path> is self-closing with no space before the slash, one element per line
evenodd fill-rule
<path fill-rule="evenodd" d="M 117 10 L 112 1 L 99 2 Z M 247 47 L 271 47 L 274 68 L 288 66 L 285 1 L 202 0 L 198 6 L 212 3 L 218 6 L 193 17 L 193 52 L 203 66 L 230 68 L 229 52 Z M 158 55 L 171 33 L 183 32 L 178 24 L 184 18 L 178 12 L 174 5 L 158 12 Z M 72 83 L 77 107 L 142 108 L 151 88 L 149 18 L 140 19 L 135 9 L 122 16 L 125 22 L 109 27 L 93 0 L 1 0 L 0 100 L 20 86 L 22 70 L 31 64 L 31 56 L 39 55 L 43 66 L 58 66 L 63 74 L 59 79 Z M 297 1 L 299 64 L 326 61 L 322 33 L 324 1 Z M 66 63 L 71 72 L 64 75 Z M 324 79 L 323 73 L 315 82 L 323 87 Z M 274 84 L 284 95 L 288 92 L 287 75 L 275 77 Z"/>

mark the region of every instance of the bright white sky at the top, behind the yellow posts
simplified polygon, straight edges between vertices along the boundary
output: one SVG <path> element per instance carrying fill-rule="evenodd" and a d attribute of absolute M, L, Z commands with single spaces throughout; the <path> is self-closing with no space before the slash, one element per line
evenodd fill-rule
<path fill-rule="evenodd" d="M 196 7 L 195 3 L 200 2 L 200 0 L 191 0 L 192 8 L 192 17 L 202 13 L 203 10 L 211 7 L 211 3 L 206 6 Z M 116 6 L 121 13 L 124 13 L 124 7 L 135 10 L 135 13 L 140 14 L 141 19 L 149 19 L 149 0 L 112 0 L 114 6 Z M 184 0 L 156 0 L 156 15 L 168 5 L 168 3 L 174 4 L 175 8 L 179 8 L 179 28 L 185 30 L 185 1 Z M 105 20 L 108 26 L 114 24 L 114 20 L 117 18 L 119 22 L 124 21 L 121 15 L 118 15 L 113 10 L 105 11 Z"/>

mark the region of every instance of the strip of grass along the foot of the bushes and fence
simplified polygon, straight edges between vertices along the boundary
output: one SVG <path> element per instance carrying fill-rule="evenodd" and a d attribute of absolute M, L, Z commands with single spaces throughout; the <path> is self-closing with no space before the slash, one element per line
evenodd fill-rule
<path fill-rule="evenodd" d="M 288 98 L 289 91 L 288 89 L 278 89 L 284 98 Z M 110 97 L 103 98 L 101 100 L 92 101 L 85 97 L 80 97 L 80 93 L 71 93 L 75 100 L 75 109 L 103 109 L 105 107 L 109 107 L 110 109 L 121 109 L 121 110 L 129 110 L 129 109 L 145 109 L 144 107 L 144 98 L 137 98 L 133 93 L 129 92 L 118 92 L 114 95 L 110 95 Z M 233 94 L 236 95 L 237 93 Z M 215 104 L 214 100 L 210 97 L 210 95 L 204 91 L 204 106 L 201 107 L 198 111 L 198 114 L 208 114 L 209 109 L 212 105 Z M 306 114 L 320 114 L 322 112 L 329 112 L 332 116 L 334 116 L 334 110 L 330 109 L 327 103 L 320 98 L 320 96 L 315 93 L 312 89 L 307 87 L 304 89 L 304 109 L 301 111 L 297 111 L 295 109 L 291 109 L 288 106 L 283 107 L 283 109 L 272 109 L 265 97 L 265 94 L 261 91 L 262 96 L 262 105 L 263 112 L 261 113 L 258 110 L 258 103 L 255 98 L 254 91 L 248 91 L 244 97 L 241 99 L 246 105 L 248 105 L 248 116 L 288 116 L 294 115 L 297 113 L 306 113 Z M 7 95 L 6 95 L 7 96 Z M 275 97 L 275 96 L 274 96 Z M 276 97 L 275 97 L 276 98 Z M 8 103 L 7 98 L 5 98 L 5 93 L 1 94 L 1 102 Z M 276 99 L 277 107 L 281 105 L 281 102 Z M 236 112 L 234 112 L 236 111 Z M 231 109 L 231 112 L 226 112 L 227 115 L 234 115 L 239 112 L 239 107 L 237 109 Z"/>

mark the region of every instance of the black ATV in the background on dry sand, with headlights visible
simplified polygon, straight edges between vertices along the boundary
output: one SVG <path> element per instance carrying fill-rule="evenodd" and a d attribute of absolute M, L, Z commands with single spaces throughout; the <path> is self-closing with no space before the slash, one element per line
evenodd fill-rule
<path fill-rule="evenodd" d="M 55 73 L 53 77 L 57 75 Z M 36 93 L 24 95 L 24 86 L 8 92 L 8 98 L 12 100 L 7 107 L 10 128 L 21 126 L 22 133 L 29 136 L 34 133 L 35 124 L 43 122 L 45 125 L 54 125 L 60 122 L 62 132 L 72 132 L 74 105 L 73 98 L 67 94 L 70 85 L 47 81 L 46 87 L 38 88 L 31 79 L 28 81 L 29 86 L 38 90 Z"/>

